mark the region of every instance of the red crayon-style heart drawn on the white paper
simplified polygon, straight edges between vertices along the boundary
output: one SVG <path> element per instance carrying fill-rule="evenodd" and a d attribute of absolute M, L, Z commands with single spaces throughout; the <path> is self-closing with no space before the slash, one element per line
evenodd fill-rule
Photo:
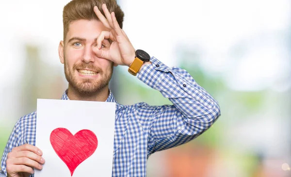
<path fill-rule="evenodd" d="M 52 148 L 69 168 L 71 176 L 77 166 L 95 152 L 98 145 L 97 136 L 88 129 L 82 129 L 73 135 L 68 129 L 57 128 L 52 130 L 49 140 Z"/>

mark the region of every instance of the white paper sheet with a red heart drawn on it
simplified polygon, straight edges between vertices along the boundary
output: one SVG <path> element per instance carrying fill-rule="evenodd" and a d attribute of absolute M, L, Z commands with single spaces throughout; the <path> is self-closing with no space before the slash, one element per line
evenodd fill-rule
<path fill-rule="evenodd" d="M 111 177 L 115 105 L 37 99 L 36 146 L 46 163 L 34 177 Z"/>

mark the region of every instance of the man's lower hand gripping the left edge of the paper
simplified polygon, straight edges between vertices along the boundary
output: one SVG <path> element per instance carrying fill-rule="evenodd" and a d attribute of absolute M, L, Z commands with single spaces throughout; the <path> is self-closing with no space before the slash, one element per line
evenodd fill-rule
<path fill-rule="evenodd" d="M 34 145 L 20 145 L 14 147 L 7 156 L 8 177 L 29 177 L 34 173 L 32 168 L 42 169 L 45 160 L 42 151 Z"/>

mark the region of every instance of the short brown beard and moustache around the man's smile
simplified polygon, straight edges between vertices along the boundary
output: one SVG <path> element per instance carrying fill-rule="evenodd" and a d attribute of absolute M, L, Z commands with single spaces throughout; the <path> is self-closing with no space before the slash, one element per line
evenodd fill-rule
<path fill-rule="evenodd" d="M 97 78 L 82 78 L 77 79 L 76 72 L 78 68 L 87 68 L 98 73 Z M 100 90 L 104 89 L 111 80 L 113 74 L 113 63 L 110 70 L 103 71 L 101 68 L 95 66 L 94 64 L 86 64 L 84 62 L 80 64 L 74 64 L 73 68 L 70 69 L 65 62 L 64 56 L 64 70 L 65 78 L 69 82 L 69 85 L 72 86 L 80 95 L 92 95 Z"/>

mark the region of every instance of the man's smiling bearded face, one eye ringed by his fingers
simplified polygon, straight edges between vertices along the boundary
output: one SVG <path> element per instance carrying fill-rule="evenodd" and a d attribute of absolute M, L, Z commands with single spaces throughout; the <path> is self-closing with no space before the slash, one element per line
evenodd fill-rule
<path fill-rule="evenodd" d="M 97 49 L 96 39 L 105 31 L 102 22 L 97 20 L 77 20 L 70 24 L 64 42 L 65 77 L 69 85 L 80 94 L 94 94 L 109 84 L 113 73 L 113 62 L 98 58 L 93 51 Z M 59 50 L 62 50 L 62 42 Z M 109 49 L 108 40 L 102 42 L 102 49 Z"/>

